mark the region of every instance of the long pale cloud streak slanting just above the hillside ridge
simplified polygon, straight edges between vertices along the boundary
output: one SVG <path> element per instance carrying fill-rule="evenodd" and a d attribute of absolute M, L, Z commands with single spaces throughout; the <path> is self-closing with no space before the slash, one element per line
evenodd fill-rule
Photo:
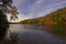
<path fill-rule="evenodd" d="M 63 4 L 63 3 L 66 3 L 66 1 L 65 1 L 65 2 L 61 2 L 61 3 L 56 3 L 54 7 L 47 9 L 47 10 L 44 10 L 44 11 L 42 11 L 42 12 L 38 12 L 37 14 L 45 15 L 45 14 L 47 14 L 47 13 L 51 13 L 52 11 L 55 11 L 55 10 L 57 10 L 57 9 L 61 9 L 61 8 L 64 8 L 65 6 L 59 6 L 59 4 Z M 57 6 L 57 7 L 56 7 L 56 6 Z M 41 16 L 42 16 L 42 15 L 41 15 Z"/>

